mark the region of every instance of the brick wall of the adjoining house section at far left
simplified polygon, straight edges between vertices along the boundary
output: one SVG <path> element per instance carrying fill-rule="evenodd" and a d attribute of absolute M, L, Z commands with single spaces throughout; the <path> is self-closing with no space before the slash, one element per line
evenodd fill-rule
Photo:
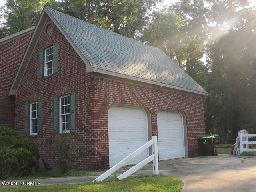
<path fill-rule="evenodd" d="M 32 32 L 0 45 L 0 124 L 14 128 L 15 98 L 8 97 L 12 81 Z"/>

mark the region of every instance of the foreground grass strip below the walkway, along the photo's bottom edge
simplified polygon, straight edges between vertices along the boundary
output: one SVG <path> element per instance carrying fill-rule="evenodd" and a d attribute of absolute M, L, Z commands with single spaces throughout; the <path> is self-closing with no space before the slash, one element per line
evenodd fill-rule
<path fill-rule="evenodd" d="M 182 181 L 176 177 L 144 175 L 105 182 L 6 187 L 0 188 L 0 192 L 180 192 L 182 187 Z"/>

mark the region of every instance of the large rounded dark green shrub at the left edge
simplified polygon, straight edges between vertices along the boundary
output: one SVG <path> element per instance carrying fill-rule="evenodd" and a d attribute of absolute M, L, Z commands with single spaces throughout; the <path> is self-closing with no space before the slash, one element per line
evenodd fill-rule
<path fill-rule="evenodd" d="M 38 147 L 28 136 L 0 126 L 0 179 L 25 176 L 38 168 Z"/>

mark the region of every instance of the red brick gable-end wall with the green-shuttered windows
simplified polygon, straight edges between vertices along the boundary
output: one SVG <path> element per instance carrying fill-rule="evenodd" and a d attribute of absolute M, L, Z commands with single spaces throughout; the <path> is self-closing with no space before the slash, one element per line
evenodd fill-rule
<path fill-rule="evenodd" d="M 49 24 L 54 26 L 50 19 L 46 27 Z M 38 78 L 38 51 L 51 46 L 54 42 L 58 42 L 58 72 Z M 17 92 L 15 128 L 21 133 L 24 132 L 25 102 L 42 99 L 42 134 L 30 137 L 39 146 L 41 157 L 53 166 L 56 165 L 54 161 L 56 157 L 52 155 L 52 146 L 54 138 L 59 135 L 59 129 L 58 134 L 52 134 L 52 98 L 75 92 L 76 133 L 72 134 L 72 140 L 78 144 L 77 150 L 80 156 L 76 160 L 76 168 L 93 167 L 90 139 L 90 134 L 92 134 L 90 126 L 91 79 L 90 74 L 86 74 L 86 64 L 58 28 L 54 26 L 50 36 L 47 36 L 44 28 Z"/>

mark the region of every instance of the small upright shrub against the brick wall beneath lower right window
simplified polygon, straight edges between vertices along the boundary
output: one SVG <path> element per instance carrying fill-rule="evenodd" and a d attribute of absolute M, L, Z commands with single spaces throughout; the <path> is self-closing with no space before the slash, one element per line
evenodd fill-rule
<path fill-rule="evenodd" d="M 57 155 L 57 164 L 62 174 L 66 174 L 73 166 L 72 160 L 77 156 L 75 143 L 68 133 L 60 134 L 55 142 L 54 148 Z"/>

